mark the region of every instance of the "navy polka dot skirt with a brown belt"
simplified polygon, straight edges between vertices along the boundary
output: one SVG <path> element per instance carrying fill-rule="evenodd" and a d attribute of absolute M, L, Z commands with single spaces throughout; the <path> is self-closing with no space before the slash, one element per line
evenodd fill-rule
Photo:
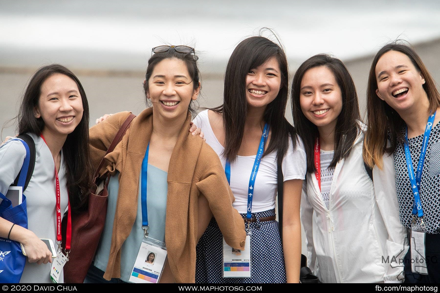
<path fill-rule="evenodd" d="M 253 218 L 275 216 L 274 210 L 252 213 Z M 246 214 L 242 214 L 246 218 Z M 243 223 L 244 224 L 244 223 Z M 247 223 L 246 223 L 247 228 Z M 197 245 L 196 283 L 285 283 L 286 268 L 277 221 L 250 223 L 252 277 L 223 278 L 223 236 L 213 218 Z"/>

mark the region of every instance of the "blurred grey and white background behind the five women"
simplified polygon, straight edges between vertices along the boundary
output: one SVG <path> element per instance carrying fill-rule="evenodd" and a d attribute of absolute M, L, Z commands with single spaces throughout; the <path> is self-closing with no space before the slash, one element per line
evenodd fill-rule
<path fill-rule="evenodd" d="M 61 63 L 81 80 L 91 123 L 105 113 L 145 108 L 141 84 L 151 47 L 195 47 L 202 73 L 201 107 L 220 105 L 234 47 L 262 27 L 286 49 L 290 79 L 302 61 L 334 54 L 352 73 L 365 111 L 370 63 L 385 43 L 404 39 L 440 82 L 440 1 L 278 0 L 0 0 L 0 122 L 18 109 L 40 66 Z M 272 40 L 275 36 L 262 34 Z M 291 121 L 290 105 L 286 117 Z M 303 238 L 304 251 L 304 238 Z"/>

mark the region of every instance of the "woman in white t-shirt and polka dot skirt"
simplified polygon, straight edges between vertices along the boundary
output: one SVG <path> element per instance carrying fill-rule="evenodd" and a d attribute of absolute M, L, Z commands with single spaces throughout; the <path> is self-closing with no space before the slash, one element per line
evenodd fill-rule
<path fill-rule="evenodd" d="M 235 196 L 233 206 L 252 231 L 252 276 L 222 278 L 222 235 L 213 219 L 198 242 L 196 282 L 299 282 L 305 152 L 284 117 L 287 96 L 284 51 L 264 37 L 250 37 L 238 44 L 227 64 L 223 105 L 200 112 L 194 119 L 222 164 L 230 163 L 227 174 Z M 253 184 L 249 177 L 261 153 Z M 275 221 L 278 164 L 284 175 L 282 242 Z"/>

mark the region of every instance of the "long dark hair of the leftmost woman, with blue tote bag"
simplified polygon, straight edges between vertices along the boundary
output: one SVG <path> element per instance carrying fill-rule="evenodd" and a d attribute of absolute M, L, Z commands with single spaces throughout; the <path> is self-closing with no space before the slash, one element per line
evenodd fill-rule
<path fill-rule="evenodd" d="M 50 76 L 60 73 L 69 76 L 77 83 L 84 109 L 82 119 L 72 133 L 67 135 L 62 146 L 67 169 L 67 188 L 69 190 L 70 206 L 74 210 L 84 208 L 92 187 L 92 163 L 88 147 L 88 102 L 78 78 L 66 67 L 51 64 L 35 72 L 26 88 L 22 104 L 18 112 L 18 134 L 27 132 L 40 136 L 44 128 L 43 118 L 35 118 L 34 108 L 37 107 L 41 94 L 41 85 Z"/>

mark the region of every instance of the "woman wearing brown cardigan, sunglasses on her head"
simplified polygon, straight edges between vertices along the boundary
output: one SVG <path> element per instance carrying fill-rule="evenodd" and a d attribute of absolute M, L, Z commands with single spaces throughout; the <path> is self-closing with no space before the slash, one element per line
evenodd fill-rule
<path fill-rule="evenodd" d="M 133 119 L 122 141 L 106 156 L 107 166 L 100 170 L 100 174 L 109 170 L 113 176 L 106 227 L 86 282 L 127 282 L 131 276 L 143 235 L 138 194 L 147 145 L 147 186 L 156 188 L 155 192 L 147 189 L 148 231 L 156 233 L 158 240 L 162 237 L 168 253 L 160 282 L 194 282 L 195 247 L 211 211 L 228 245 L 244 248 L 243 220 L 232 208 L 234 196 L 220 160 L 200 137 L 189 133 L 190 102 L 200 89 L 194 49 L 158 48 L 149 60 L 144 82 L 153 107 Z M 90 130 L 95 167 L 128 115 L 114 114 Z M 150 178 L 150 170 L 158 175 Z"/>

